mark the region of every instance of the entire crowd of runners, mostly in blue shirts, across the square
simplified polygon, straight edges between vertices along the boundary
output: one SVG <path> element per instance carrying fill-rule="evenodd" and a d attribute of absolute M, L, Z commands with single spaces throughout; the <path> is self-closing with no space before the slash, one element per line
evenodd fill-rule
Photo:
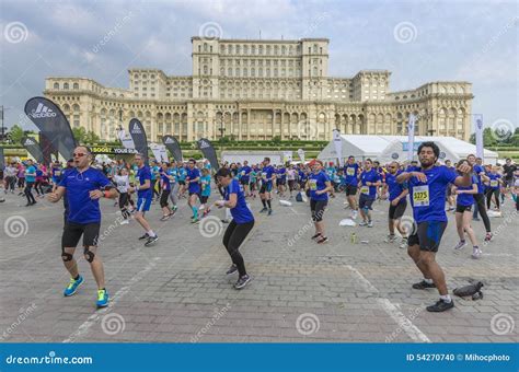
<path fill-rule="evenodd" d="M 267 216 L 273 214 L 274 197 L 309 202 L 315 226 L 312 240 L 323 244 L 328 242 L 324 224 L 328 199 L 343 200 L 344 196 L 349 220 L 362 228 L 373 228 L 373 208 L 388 208 L 384 242 L 407 248 L 424 277 L 412 287 L 419 290 L 437 288 L 440 300 L 427 310 L 441 312 L 453 306 L 443 271 L 436 261 L 447 228 L 447 213 L 455 214 L 460 237 L 453 249 L 463 249 L 468 237 L 473 247 L 472 257 L 481 258 L 473 221 L 480 221 L 481 216 L 485 226 L 483 240 L 489 242 L 493 234 L 488 212 L 499 213 L 503 204 L 509 200 L 519 210 L 519 170 L 510 159 L 504 165 L 486 165 L 474 155 L 455 164 L 448 160 L 440 164 L 439 149 L 434 142 L 423 142 L 417 155 L 418 161 L 410 164 L 396 161 L 380 164 L 376 160 L 358 161 L 349 156 L 341 166 L 320 160 L 273 165 L 270 159 L 265 158 L 260 164 L 244 160 L 243 163 L 223 163 L 219 170 L 212 170 L 207 160 L 159 163 L 153 159 L 147 162 L 142 154 L 136 154 L 131 162 L 97 163 L 89 148 L 78 147 L 73 159 L 66 164 L 8 161 L 1 170 L 1 178 L 4 194 L 26 198 L 26 207 L 36 205 L 37 198 L 45 195 L 51 202 L 64 200 L 61 258 L 71 276 L 64 294 L 74 294 L 84 281 L 73 258 L 82 236 L 83 255 L 99 288 L 99 307 L 106 306 L 109 299 L 103 264 L 96 254 L 101 228 L 99 199 L 102 197 L 117 199 L 114 207 L 120 209 L 122 224 L 132 220 L 140 224 L 143 234 L 138 239 L 146 246 L 159 240 L 152 225 L 171 219 L 183 198 L 192 212 L 189 222 L 193 224 L 211 213 L 212 208 L 224 208 L 222 222 L 229 225 L 223 245 L 232 261 L 227 275 L 238 272 L 234 288 L 242 289 L 251 277 L 239 248 L 254 226 L 253 210 L 258 202 L 258 212 Z M 209 202 L 211 193 L 217 195 L 212 204 Z M 384 207 L 382 200 L 388 200 L 389 206 Z M 151 221 L 147 216 L 152 206 L 160 208 L 160 221 Z M 402 223 L 408 206 L 412 224 Z"/>

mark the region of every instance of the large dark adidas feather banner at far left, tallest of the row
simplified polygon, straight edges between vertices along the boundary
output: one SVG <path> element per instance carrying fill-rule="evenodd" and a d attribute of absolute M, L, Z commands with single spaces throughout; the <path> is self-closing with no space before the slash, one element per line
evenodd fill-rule
<path fill-rule="evenodd" d="M 71 159 L 77 143 L 65 114 L 50 100 L 33 97 L 25 104 L 25 115 L 47 137 L 55 150 L 65 159 Z"/>

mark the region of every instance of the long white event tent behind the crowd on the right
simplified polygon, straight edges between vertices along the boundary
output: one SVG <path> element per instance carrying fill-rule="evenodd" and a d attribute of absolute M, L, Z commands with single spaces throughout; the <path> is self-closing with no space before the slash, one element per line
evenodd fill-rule
<path fill-rule="evenodd" d="M 347 159 L 354 155 L 358 160 L 370 158 L 381 163 L 391 160 L 400 162 L 407 160 L 407 136 L 365 136 L 365 135 L 342 135 L 343 150 L 341 156 L 335 151 L 333 141 L 321 151 L 318 159 L 322 161 L 336 161 L 337 158 Z M 454 137 L 422 137 L 416 136 L 414 148 L 414 160 L 417 160 L 416 150 L 422 142 L 432 141 L 440 148 L 440 162 L 451 160 L 458 162 L 469 154 L 476 153 L 474 144 L 459 140 Z M 497 162 L 497 152 L 485 150 L 484 163 L 495 164 Z"/>

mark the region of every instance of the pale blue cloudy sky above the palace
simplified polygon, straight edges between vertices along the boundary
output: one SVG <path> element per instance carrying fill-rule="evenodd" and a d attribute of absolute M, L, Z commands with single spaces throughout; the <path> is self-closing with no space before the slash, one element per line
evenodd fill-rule
<path fill-rule="evenodd" d="M 128 86 L 128 68 L 191 74 L 191 37 L 327 37 L 330 74 L 388 69 L 391 91 L 428 81 L 473 83 L 473 113 L 518 125 L 517 1 L 66 1 L 0 2 L 0 105 L 25 123 L 46 77 Z M 22 119 L 21 119 L 22 118 Z"/>

